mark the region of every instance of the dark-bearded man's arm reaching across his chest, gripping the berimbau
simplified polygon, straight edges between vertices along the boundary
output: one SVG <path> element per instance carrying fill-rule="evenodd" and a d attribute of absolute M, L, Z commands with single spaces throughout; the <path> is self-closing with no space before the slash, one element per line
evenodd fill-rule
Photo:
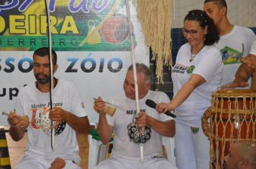
<path fill-rule="evenodd" d="M 50 120 L 56 121 L 55 125 L 53 125 L 52 127 L 59 125 L 62 121 L 65 121 L 76 132 L 88 133 L 89 122 L 87 116 L 77 117 L 76 115 L 73 115 L 72 113 L 63 110 L 60 107 L 53 107 L 53 109 L 50 110 L 49 117 Z"/>

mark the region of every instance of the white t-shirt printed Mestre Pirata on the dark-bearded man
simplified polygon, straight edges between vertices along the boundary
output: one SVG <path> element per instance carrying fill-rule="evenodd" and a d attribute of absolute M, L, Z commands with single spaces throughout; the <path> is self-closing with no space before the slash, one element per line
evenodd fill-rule
<path fill-rule="evenodd" d="M 83 101 L 76 87 L 68 81 L 59 79 L 52 92 L 52 107 L 61 107 L 63 110 L 73 113 L 78 117 L 87 116 Z M 29 117 L 27 128 L 28 140 L 24 155 L 41 157 L 45 160 L 53 160 L 60 157 L 65 160 L 80 162 L 78 155 L 78 143 L 76 132 L 65 123 L 58 135 L 55 135 L 55 150 L 52 152 L 50 134 L 40 128 L 42 113 L 50 109 L 49 92 L 43 93 L 37 89 L 35 82 L 24 87 L 17 97 L 17 114 Z"/>

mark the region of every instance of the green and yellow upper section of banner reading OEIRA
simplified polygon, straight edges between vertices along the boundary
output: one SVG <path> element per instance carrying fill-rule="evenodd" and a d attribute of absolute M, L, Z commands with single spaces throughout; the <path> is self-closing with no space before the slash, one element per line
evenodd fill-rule
<path fill-rule="evenodd" d="M 53 49 L 129 51 L 124 0 L 50 0 L 48 9 Z M 1 50 L 33 50 L 48 45 L 44 0 L 1 1 L 0 23 Z"/>

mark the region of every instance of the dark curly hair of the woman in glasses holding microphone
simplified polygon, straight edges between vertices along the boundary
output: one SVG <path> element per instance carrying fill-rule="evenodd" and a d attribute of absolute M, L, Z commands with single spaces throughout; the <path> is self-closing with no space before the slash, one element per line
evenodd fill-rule
<path fill-rule="evenodd" d="M 214 20 L 207 16 L 205 11 L 195 9 L 188 11 L 188 14 L 185 16 L 184 21 L 198 21 L 202 29 L 208 26 L 207 34 L 204 39 L 205 45 L 211 45 L 219 41 L 219 32 L 214 24 Z"/>

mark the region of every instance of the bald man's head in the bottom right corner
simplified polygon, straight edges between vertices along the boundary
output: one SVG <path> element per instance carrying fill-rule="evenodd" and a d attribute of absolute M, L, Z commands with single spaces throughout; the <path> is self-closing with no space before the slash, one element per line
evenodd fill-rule
<path fill-rule="evenodd" d="M 256 143 L 250 141 L 234 143 L 224 160 L 227 169 L 255 169 Z"/>

